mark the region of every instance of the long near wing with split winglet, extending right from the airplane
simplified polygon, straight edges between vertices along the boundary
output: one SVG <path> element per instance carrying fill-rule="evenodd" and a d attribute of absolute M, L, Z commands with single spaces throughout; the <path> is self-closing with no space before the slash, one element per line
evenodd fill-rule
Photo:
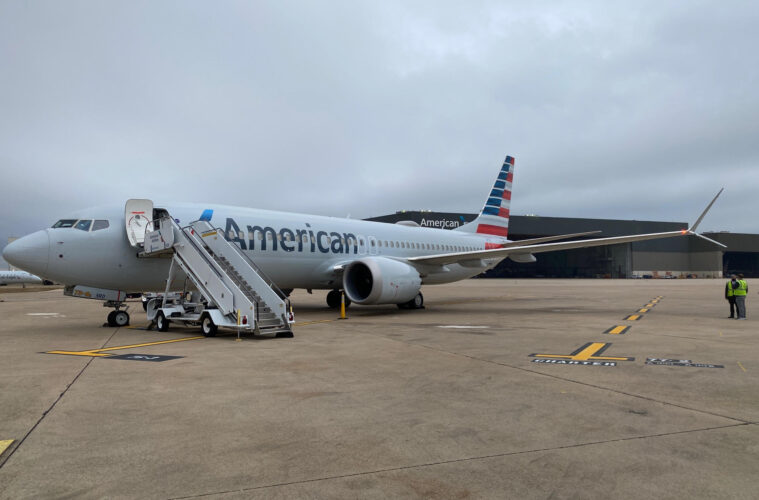
<path fill-rule="evenodd" d="M 714 243 L 715 245 L 725 247 L 725 245 L 723 245 L 722 243 L 711 240 L 695 232 L 695 229 L 701 223 L 704 216 L 712 207 L 712 205 L 717 200 L 720 194 L 722 194 L 722 190 L 720 190 L 719 193 L 717 193 L 717 196 L 715 196 L 714 199 L 711 201 L 711 203 L 709 203 L 709 205 L 706 207 L 706 210 L 704 210 L 701 213 L 701 216 L 696 220 L 696 223 L 693 226 L 691 226 L 689 229 L 682 229 L 680 231 L 668 231 L 664 233 L 649 233 L 649 234 L 634 234 L 630 236 L 614 236 L 611 238 L 594 238 L 590 240 L 562 241 L 558 243 L 543 243 L 543 244 L 529 244 L 531 243 L 530 240 L 527 240 L 525 242 L 516 241 L 516 242 L 510 243 L 510 244 L 516 244 L 516 246 L 509 246 L 507 248 L 496 248 L 492 250 L 475 250 L 471 252 L 457 252 L 457 253 L 447 253 L 447 254 L 438 254 L 438 255 L 425 255 L 421 257 L 411 257 L 406 260 L 410 264 L 442 266 L 445 264 L 455 264 L 455 263 L 467 262 L 467 261 L 471 262 L 471 261 L 482 260 L 482 259 L 504 259 L 508 257 L 509 255 L 536 254 L 536 253 L 543 253 L 543 252 L 553 252 L 555 250 L 571 250 L 573 248 L 588 248 L 588 247 L 597 247 L 597 246 L 604 246 L 604 245 L 616 245 L 619 243 L 632 243 L 634 241 L 657 240 L 661 238 L 672 238 L 675 236 L 687 236 L 687 235 L 697 236 L 699 238 L 703 238 L 707 241 L 710 241 L 711 243 Z M 567 237 L 568 236 L 569 235 L 567 235 Z"/>

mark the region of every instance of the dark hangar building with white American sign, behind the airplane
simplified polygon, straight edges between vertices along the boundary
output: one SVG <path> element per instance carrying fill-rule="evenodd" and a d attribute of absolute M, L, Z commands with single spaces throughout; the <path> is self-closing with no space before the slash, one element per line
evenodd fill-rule
<path fill-rule="evenodd" d="M 422 227 L 454 229 L 474 220 L 476 214 L 399 211 L 367 220 L 396 223 L 412 221 Z M 687 229 L 685 222 L 611 219 L 577 219 L 512 215 L 509 239 L 523 240 L 559 234 L 601 231 L 587 238 Z M 580 248 L 536 255 L 537 262 L 509 259 L 486 277 L 514 278 L 721 278 L 741 272 L 759 277 L 759 235 L 728 232 L 704 233 L 728 246 L 723 249 L 694 236 L 639 241 L 604 247 Z"/>

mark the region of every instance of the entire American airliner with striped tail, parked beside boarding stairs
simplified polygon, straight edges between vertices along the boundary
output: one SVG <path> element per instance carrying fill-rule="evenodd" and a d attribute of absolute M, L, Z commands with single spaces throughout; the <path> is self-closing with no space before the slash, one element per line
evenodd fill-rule
<path fill-rule="evenodd" d="M 592 233 L 511 241 L 513 175 L 514 158 L 507 156 L 478 217 L 453 230 L 423 228 L 410 221 L 387 224 L 225 205 L 129 200 L 126 207 L 71 214 L 50 228 L 10 243 L 3 257 L 15 267 L 69 289 L 89 287 L 79 295 L 103 299 L 105 306 L 118 312 L 127 294 L 183 290 L 182 273 L 167 284 L 171 260 L 139 257 L 152 220 L 170 215 L 185 226 L 213 220 L 222 226 L 224 237 L 288 295 L 296 288 L 330 290 L 327 304 L 337 308 L 344 291 L 346 305 L 396 304 L 420 309 L 424 306 L 422 285 L 471 278 L 505 258 L 534 262 L 535 254 L 542 252 L 687 235 L 724 247 L 696 233 L 722 190 L 688 229 L 574 241 L 558 240 Z M 120 318 L 123 323 L 123 311 Z M 128 323 L 128 315 L 125 319 Z"/>

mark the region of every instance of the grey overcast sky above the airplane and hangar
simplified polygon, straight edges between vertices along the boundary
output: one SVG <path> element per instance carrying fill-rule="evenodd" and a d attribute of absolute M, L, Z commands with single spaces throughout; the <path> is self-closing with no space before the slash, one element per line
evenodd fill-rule
<path fill-rule="evenodd" d="M 759 232 L 756 2 L 0 2 L 0 246 L 127 198 Z"/>

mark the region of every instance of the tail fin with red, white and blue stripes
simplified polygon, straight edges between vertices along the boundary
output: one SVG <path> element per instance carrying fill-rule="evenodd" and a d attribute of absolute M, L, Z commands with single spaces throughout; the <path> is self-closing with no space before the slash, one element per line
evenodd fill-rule
<path fill-rule="evenodd" d="M 480 215 L 457 231 L 490 234 L 503 238 L 509 235 L 509 209 L 511 207 L 511 182 L 514 178 L 514 158 L 507 156 L 498 172 L 485 206 Z"/>

